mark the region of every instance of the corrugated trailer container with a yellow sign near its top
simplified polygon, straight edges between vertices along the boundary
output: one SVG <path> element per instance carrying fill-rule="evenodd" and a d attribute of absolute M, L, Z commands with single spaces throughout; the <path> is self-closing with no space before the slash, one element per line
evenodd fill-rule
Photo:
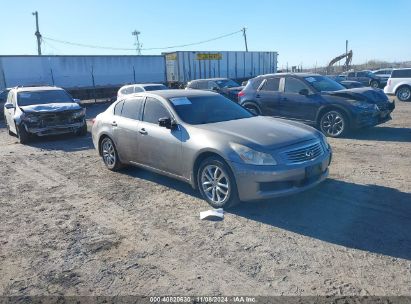
<path fill-rule="evenodd" d="M 248 79 L 277 72 L 277 52 L 178 51 L 164 55 L 169 83 L 214 77 Z"/>

